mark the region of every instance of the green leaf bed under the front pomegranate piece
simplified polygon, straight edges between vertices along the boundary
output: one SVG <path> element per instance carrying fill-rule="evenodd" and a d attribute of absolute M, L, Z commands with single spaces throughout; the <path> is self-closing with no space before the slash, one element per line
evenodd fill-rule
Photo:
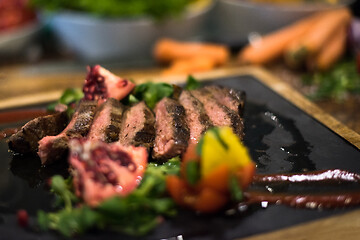
<path fill-rule="evenodd" d="M 65 236 L 81 234 L 90 228 L 109 229 L 130 235 L 143 235 L 159 223 L 159 216 L 176 214 L 175 204 L 166 196 L 166 176 L 179 174 L 180 159 L 173 158 L 158 165 L 150 163 L 140 186 L 126 197 L 112 197 L 96 208 L 86 205 L 74 207 L 77 201 L 71 179 L 52 178 L 51 190 L 62 199 L 58 212 L 38 212 L 42 230 L 57 230 Z"/>

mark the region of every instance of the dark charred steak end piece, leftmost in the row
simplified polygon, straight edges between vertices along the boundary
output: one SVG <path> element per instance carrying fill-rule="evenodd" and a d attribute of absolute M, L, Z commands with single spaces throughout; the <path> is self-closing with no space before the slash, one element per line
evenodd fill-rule
<path fill-rule="evenodd" d="M 9 149 L 22 154 L 36 153 L 40 139 L 59 134 L 67 123 L 65 111 L 35 118 L 8 139 Z"/>

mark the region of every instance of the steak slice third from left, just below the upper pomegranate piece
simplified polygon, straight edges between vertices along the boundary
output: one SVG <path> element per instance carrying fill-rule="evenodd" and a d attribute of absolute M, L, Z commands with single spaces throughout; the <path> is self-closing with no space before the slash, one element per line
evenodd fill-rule
<path fill-rule="evenodd" d="M 124 106 L 114 98 L 108 98 L 96 111 L 94 121 L 90 127 L 89 140 L 115 142 L 119 140 L 121 118 Z"/>

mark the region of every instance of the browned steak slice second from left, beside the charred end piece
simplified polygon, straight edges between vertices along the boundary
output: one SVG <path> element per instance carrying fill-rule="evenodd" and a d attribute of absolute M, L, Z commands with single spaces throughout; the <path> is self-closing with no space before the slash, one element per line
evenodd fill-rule
<path fill-rule="evenodd" d="M 50 164 L 64 158 L 71 138 L 87 135 L 95 115 L 97 102 L 82 101 L 67 127 L 56 136 L 46 136 L 39 141 L 38 155 L 42 164 Z"/>

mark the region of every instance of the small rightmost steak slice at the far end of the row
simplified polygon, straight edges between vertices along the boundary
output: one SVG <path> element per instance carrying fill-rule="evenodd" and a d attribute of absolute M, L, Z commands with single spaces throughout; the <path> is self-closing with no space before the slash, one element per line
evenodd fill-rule
<path fill-rule="evenodd" d="M 225 105 L 229 109 L 238 112 L 240 116 L 243 115 L 246 94 L 244 91 L 235 90 L 217 85 L 208 85 L 204 87 L 212 93 L 215 99 L 222 105 Z"/>

